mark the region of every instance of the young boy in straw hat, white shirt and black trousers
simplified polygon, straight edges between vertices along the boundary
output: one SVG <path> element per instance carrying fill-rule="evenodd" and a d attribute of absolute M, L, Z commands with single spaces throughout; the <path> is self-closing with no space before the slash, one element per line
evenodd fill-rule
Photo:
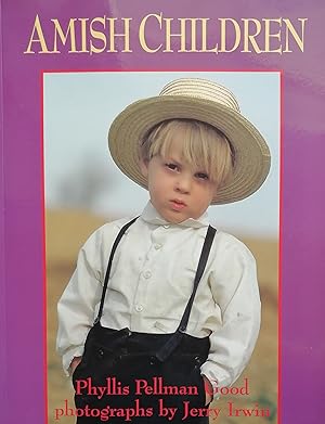
<path fill-rule="evenodd" d="M 206 210 L 259 189 L 268 145 L 227 89 L 186 78 L 128 106 L 108 141 L 150 202 L 89 237 L 58 303 L 77 422 L 207 423 L 251 356 L 260 298 L 252 255 Z"/>

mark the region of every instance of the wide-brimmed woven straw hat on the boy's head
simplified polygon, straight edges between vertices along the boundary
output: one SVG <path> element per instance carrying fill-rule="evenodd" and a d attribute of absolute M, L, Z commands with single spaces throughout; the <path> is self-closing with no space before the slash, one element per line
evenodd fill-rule
<path fill-rule="evenodd" d="M 113 159 L 127 177 L 147 189 L 139 167 L 139 143 L 155 125 L 173 118 L 210 124 L 232 144 L 235 154 L 233 178 L 218 188 L 212 204 L 240 201 L 261 187 L 271 164 L 265 140 L 240 114 L 229 89 L 199 78 L 171 81 L 158 97 L 134 102 L 115 118 L 109 128 L 108 146 Z"/>

